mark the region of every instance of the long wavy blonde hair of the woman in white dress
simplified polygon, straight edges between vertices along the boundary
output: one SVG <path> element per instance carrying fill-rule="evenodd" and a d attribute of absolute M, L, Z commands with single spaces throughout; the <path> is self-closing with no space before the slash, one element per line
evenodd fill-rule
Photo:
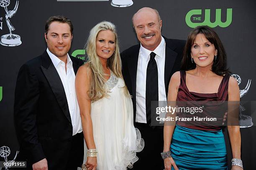
<path fill-rule="evenodd" d="M 115 35 L 115 51 L 113 55 L 108 58 L 107 66 L 112 70 L 112 72 L 117 76 L 123 79 L 122 76 L 122 65 L 118 45 L 118 35 L 115 29 L 115 25 L 108 21 L 102 21 L 95 25 L 92 30 L 90 30 L 90 35 L 86 43 L 86 52 L 87 52 L 87 63 L 90 69 L 90 89 L 87 92 L 90 100 L 99 100 L 102 97 L 107 96 L 107 92 L 104 89 L 106 75 L 103 72 L 102 64 L 100 58 L 97 55 L 96 51 L 96 38 L 100 31 L 110 30 Z M 99 95 L 101 94 L 101 95 Z M 128 89 L 125 86 L 125 95 L 128 95 Z"/>

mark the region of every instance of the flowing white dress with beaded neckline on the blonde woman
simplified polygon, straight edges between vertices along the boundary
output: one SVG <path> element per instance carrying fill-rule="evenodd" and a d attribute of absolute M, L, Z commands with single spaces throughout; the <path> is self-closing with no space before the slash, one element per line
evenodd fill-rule
<path fill-rule="evenodd" d="M 133 125 L 133 103 L 124 86 L 124 81 L 110 71 L 105 83 L 108 96 L 91 103 L 97 170 L 132 168 L 138 160 L 136 152 L 144 148 L 141 133 Z"/>

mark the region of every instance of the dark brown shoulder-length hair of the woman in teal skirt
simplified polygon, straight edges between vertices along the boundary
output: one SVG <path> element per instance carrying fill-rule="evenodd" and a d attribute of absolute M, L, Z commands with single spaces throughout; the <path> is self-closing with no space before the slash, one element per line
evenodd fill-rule
<path fill-rule="evenodd" d="M 227 68 L 227 54 L 219 36 L 212 28 L 205 25 L 198 26 L 189 33 L 183 51 L 181 70 L 192 70 L 196 67 L 195 62 L 191 62 L 191 47 L 195 42 L 195 38 L 198 34 L 205 35 L 206 39 L 215 46 L 216 50 L 218 50 L 217 60 L 213 60 L 212 72 L 221 76 L 227 73 L 230 74 L 230 71 Z"/>

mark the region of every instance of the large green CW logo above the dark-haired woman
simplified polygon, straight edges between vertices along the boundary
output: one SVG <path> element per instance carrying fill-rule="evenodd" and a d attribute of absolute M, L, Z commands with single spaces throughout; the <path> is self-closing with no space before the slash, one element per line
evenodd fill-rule
<path fill-rule="evenodd" d="M 221 21 L 221 9 L 215 10 L 215 22 L 212 23 L 210 20 L 210 9 L 205 9 L 205 20 L 202 21 L 202 10 L 190 10 L 186 15 L 186 23 L 189 27 L 195 28 L 200 25 L 208 25 L 211 28 L 215 28 L 217 26 L 220 26 L 222 28 L 228 27 L 232 22 L 232 8 L 227 9 L 227 18 L 225 23 Z M 195 16 L 197 15 L 197 16 Z M 198 16 L 201 15 L 201 16 Z M 194 16 L 194 17 L 193 17 Z M 196 22 L 195 22 L 196 21 Z"/>

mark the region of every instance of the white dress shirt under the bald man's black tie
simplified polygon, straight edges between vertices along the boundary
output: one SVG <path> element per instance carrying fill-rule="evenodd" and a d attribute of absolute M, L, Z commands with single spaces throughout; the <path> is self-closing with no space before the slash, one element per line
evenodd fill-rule
<path fill-rule="evenodd" d="M 137 79 L 136 79 L 136 122 L 147 123 L 146 120 L 146 72 L 150 53 L 142 45 L 138 55 Z M 159 101 L 166 101 L 164 85 L 165 41 L 162 37 L 160 44 L 153 51 L 158 71 L 158 96 Z"/>

